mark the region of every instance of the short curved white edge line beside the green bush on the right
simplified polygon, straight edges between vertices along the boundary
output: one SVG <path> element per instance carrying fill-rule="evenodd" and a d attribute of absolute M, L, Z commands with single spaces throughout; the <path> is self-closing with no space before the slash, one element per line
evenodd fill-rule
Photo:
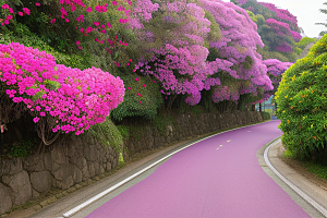
<path fill-rule="evenodd" d="M 272 172 L 275 172 L 275 174 L 277 174 L 284 183 L 287 183 L 292 190 L 294 190 L 294 192 L 296 192 L 301 197 L 303 197 L 306 202 L 308 202 L 312 206 L 314 206 L 318 211 L 320 211 L 325 217 L 327 217 L 327 210 L 320 206 L 318 203 L 316 203 L 313 198 L 311 198 L 310 196 L 307 196 L 304 192 L 302 192 L 299 187 L 296 187 L 293 183 L 291 183 L 289 180 L 287 180 L 284 177 L 282 177 L 270 164 L 269 158 L 268 158 L 268 150 L 269 148 L 281 142 L 281 140 L 277 140 L 276 142 L 271 143 L 266 149 L 265 149 L 265 154 L 264 154 L 264 158 L 265 158 L 265 162 L 266 165 L 270 168 L 270 170 L 272 170 Z"/>

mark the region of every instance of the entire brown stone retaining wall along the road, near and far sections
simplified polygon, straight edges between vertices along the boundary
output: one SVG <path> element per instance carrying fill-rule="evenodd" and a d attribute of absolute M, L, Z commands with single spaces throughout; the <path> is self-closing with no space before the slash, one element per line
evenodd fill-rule
<path fill-rule="evenodd" d="M 131 133 L 125 142 L 129 155 L 144 149 L 170 144 L 187 137 L 229 129 L 241 124 L 261 122 L 257 111 L 223 114 L 181 116 L 165 134 L 150 124 L 143 125 L 138 134 Z M 102 147 L 93 136 L 69 135 L 57 140 L 49 153 L 0 161 L 0 215 L 13 206 L 46 193 L 51 186 L 68 190 L 118 166 L 119 154 L 111 147 Z"/>

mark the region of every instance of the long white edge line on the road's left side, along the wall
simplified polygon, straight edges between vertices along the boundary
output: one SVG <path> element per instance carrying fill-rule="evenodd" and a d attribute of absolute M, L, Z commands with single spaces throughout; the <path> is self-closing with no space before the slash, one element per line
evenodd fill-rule
<path fill-rule="evenodd" d="M 271 121 L 267 121 L 267 122 L 271 122 Z M 266 122 L 263 122 L 263 123 L 266 123 Z M 258 125 L 258 124 L 263 124 L 263 123 L 256 123 L 256 124 L 252 124 L 252 125 Z M 203 138 L 203 140 L 196 141 L 195 143 L 192 143 L 192 144 L 190 144 L 190 145 L 186 145 L 185 147 L 182 147 L 181 149 L 179 149 L 179 150 L 177 150 L 177 152 L 174 152 L 174 153 L 172 153 L 172 154 L 170 154 L 170 155 L 168 155 L 168 156 L 161 158 L 160 160 L 158 160 L 158 161 L 152 164 L 150 166 L 148 166 L 148 167 L 144 168 L 143 170 L 136 172 L 135 174 L 133 174 L 133 175 L 126 178 L 125 180 L 123 180 L 123 181 L 117 183 L 116 185 L 109 187 L 108 190 L 105 190 L 104 192 L 97 194 L 96 196 L 94 196 L 94 197 L 87 199 L 86 202 L 82 203 L 81 205 L 78 205 L 78 206 L 74 207 L 73 209 L 71 209 L 71 210 L 66 211 L 65 214 L 63 214 L 62 217 L 70 217 L 70 216 L 76 214 L 78 210 L 81 210 L 81 209 L 83 209 L 84 207 L 90 205 L 92 203 L 98 201 L 99 198 L 104 197 L 106 194 L 112 192 L 113 190 L 116 190 L 116 189 L 118 189 L 119 186 L 123 185 L 124 183 L 131 181 L 131 180 L 134 179 L 135 177 L 142 174 L 143 172 L 145 172 L 146 170 L 153 168 L 154 166 L 156 166 L 157 164 L 159 164 L 159 162 L 161 162 L 162 160 L 167 159 L 168 157 L 170 157 L 170 156 L 172 156 L 172 155 L 174 155 L 174 154 L 181 152 L 182 149 L 185 149 L 186 147 L 190 147 L 191 145 L 194 145 L 194 144 L 199 143 L 199 142 L 202 142 L 202 141 L 204 141 L 204 140 L 207 140 L 207 138 L 209 138 L 209 137 L 214 137 L 214 136 L 216 136 L 216 135 L 219 135 L 219 134 L 222 134 L 222 133 L 226 133 L 226 132 L 230 132 L 230 131 L 234 131 L 234 130 L 239 130 L 239 129 L 243 129 L 243 128 L 247 128 L 247 126 L 252 126 L 252 125 L 246 125 L 246 126 L 237 128 L 237 129 L 228 130 L 228 131 L 225 131 L 225 132 L 220 132 L 220 133 L 217 133 L 217 134 L 215 134 L 215 135 L 210 135 L 210 136 L 205 137 L 205 138 Z"/>

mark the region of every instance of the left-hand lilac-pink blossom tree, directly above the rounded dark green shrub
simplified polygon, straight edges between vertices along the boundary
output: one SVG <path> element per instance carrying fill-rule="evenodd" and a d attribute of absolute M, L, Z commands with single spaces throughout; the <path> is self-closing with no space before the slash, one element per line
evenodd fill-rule
<path fill-rule="evenodd" d="M 164 12 L 156 13 L 157 10 Z M 137 1 L 133 10 L 132 27 L 140 29 L 141 40 L 156 45 L 149 48 L 152 58 L 141 60 L 135 70 L 153 75 L 162 84 L 162 94 L 187 94 L 185 101 L 196 105 L 201 99 L 201 90 L 206 80 L 206 58 L 208 49 L 204 47 L 210 22 L 205 19 L 205 12 L 195 3 L 186 1 L 162 1 L 153 4 L 150 1 Z M 165 35 L 158 33 L 164 26 Z M 146 29 L 146 23 L 152 23 L 154 29 Z M 147 25 L 148 26 L 148 25 Z M 142 37 L 145 36 L 145 37 Z M 161 40 L 165 38 L 165 40 Z"/>

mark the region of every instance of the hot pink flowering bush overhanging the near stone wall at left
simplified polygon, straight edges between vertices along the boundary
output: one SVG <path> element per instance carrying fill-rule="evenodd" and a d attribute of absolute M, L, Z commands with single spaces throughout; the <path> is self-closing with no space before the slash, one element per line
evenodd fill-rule
<path fill-rule="evenodd" d="M 123 101 L 124 86 L 100 69 L 81 71 L 58 65 L 51 55 L 17 43 L 0 45 L 0 81 L 14 102 L 24 102 L 35 118 L 53 118 L 53 132 L 83 133 L 104 122 Z M 55 124 L 56 123 L 56 124 Z"/>

